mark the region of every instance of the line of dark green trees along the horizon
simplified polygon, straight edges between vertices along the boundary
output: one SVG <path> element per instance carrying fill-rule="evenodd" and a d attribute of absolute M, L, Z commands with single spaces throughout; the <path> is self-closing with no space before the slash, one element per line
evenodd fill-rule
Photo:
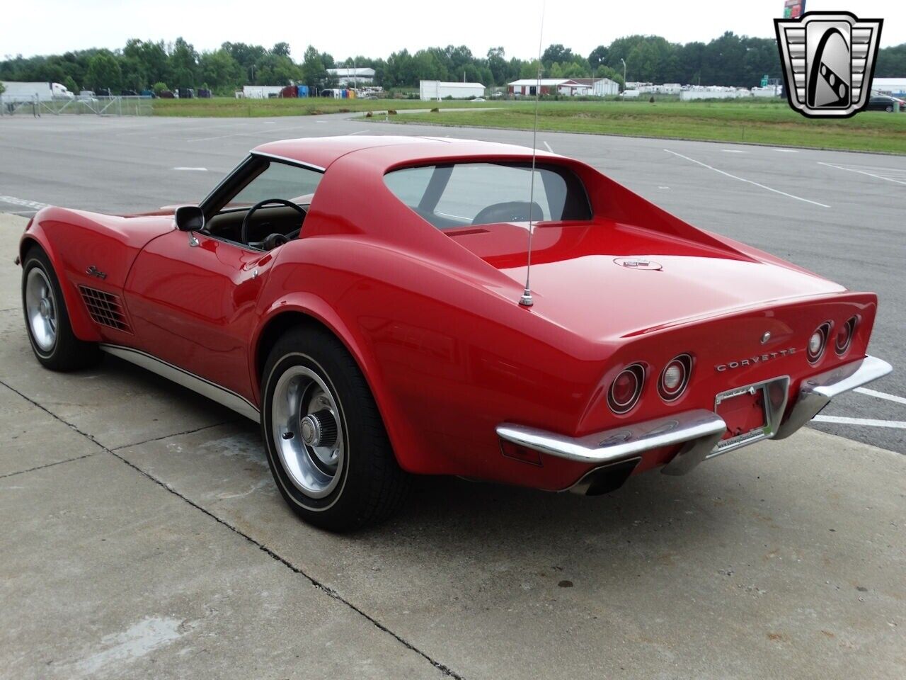
<path fill-rule="evenodd" d="M 127 41 L 122 49 L 90 49 L 0 62 L 0 80 L 52 81 L 70 92 L 109 89 L 134 90 L 204 87 L 216 94 L 231 94 L 246 84 L 333 87 L 329 68 L 371 67 L 375 83 L 384 88 L 418 86 L 419 80 L 463 81 L 505 85 L 519 78 L 535 78 L 539 67 L 545 78 L 607 77 L 649 83 L 692 83 L 752 87 L 762 76 L 781 78 L 773 38 L 753 38 L 731 32 L 706 43 L 670 43 L 659 35 L 629 35 L 599 45 L 588 55 L 563 44 L 552 44 L 537 60 L 506 57 L 503 47 L 484 56 L 465 45 L 429 47 L 410 53 L 403 49 L 386 59 L 363 55 L 335 59 L 309 46 L 300 61 L 289 44 L 271 48 L 245 43 L 224 43 L 198 52 L 183 38 L 172 43 Z M 880 51 L 878 77 L 906 76 L 906 44 Z"/>

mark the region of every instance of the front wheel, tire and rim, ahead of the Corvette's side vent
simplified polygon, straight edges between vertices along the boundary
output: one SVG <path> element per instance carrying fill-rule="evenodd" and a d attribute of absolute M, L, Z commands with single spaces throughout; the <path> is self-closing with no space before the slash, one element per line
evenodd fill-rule
<path fill-rule="evenodd" d="M 101 351 L 72 333 L 60 281 L 43 250 L 34 247 L 22 267 L 22 306 L 34 356 L 53 371 L 74 371 L 97 364 Z"/>

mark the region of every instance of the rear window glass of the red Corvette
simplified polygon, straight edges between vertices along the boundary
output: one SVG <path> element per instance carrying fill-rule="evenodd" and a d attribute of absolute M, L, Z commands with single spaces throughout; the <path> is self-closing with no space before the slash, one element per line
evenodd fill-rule
<path fill-rule="evenodd" d="M 453 163 L 393 170 L 384 177 L 398 199 L 437 228 L 500 222 L 592 219 L 572 170 L 531 163 Z"/>

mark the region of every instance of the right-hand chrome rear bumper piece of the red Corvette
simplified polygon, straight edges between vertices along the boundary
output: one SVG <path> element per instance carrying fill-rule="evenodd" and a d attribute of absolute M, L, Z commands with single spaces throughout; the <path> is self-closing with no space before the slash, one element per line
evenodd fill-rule
<path fill-rule="evenodd" d="M 892 365 L 886 361 L 875 356 L 866 356 L 864 359 L 807 378 L 799 387 L 799 395 L 793 403 L 793 410 L 780 425 L 774 438 L 785 439 L 812 420 L 835 396 L 882 378 L 892 370 Z"/>

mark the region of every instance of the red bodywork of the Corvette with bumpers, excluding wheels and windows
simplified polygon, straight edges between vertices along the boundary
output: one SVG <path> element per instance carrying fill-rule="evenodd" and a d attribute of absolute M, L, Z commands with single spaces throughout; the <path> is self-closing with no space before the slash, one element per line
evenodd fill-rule
<path fill-rule="evenodd" d="M 311 318 L 361 368 L 405 471 L 550 491 L 605 463 L 632 462 L 622 481 L 676 459 L 701 437 L 658 437 L 681 414 L 713 421 L 718 394 L 788 377 L 777 402 L 783 424 L 766 432 L 783 436 L 824 405 L 809 403 L 810 379 L 835 385 L 826 403 L 890 369 L 866 356 L 874 294 L 694 228 L 577 160 L 538 153 L 582 181 L 593 218 L 536 224 L 534 306 L 521 306 L 525 225 L 434 228 L 384 177 L 432 163 L 526 162 L 530 150 L 357 136 L 277 141 L 252 153 L 324 170 L 300 238 L 267 252 L 188 236 L 169 210 L 38 213 L 22 248 L 38 244 L 50 257 L 75 335 L 133 360 L 155 357 L 256 418 L 268 347 Z M 115 323 L 92 318 L 82 287 L 104 294 Z M 852 341 L 838 354 L 834 334 L 851 319 Z M 809 362 L 806 345 L 824 324 L 829 346 Z M 683 354 L 688 387 L 665 401 L 657 376 Z M 610 386 L 630 364 L 645 375 L 641 398 L 614 413 Z M 802 403 L 808 408 L 795 413 Z M 711 423 L 708 455 L 732 434 L 720 427 L 715 436 Z M 648 444 L 610 458 L 583 454 L 612 436 Z"/>

